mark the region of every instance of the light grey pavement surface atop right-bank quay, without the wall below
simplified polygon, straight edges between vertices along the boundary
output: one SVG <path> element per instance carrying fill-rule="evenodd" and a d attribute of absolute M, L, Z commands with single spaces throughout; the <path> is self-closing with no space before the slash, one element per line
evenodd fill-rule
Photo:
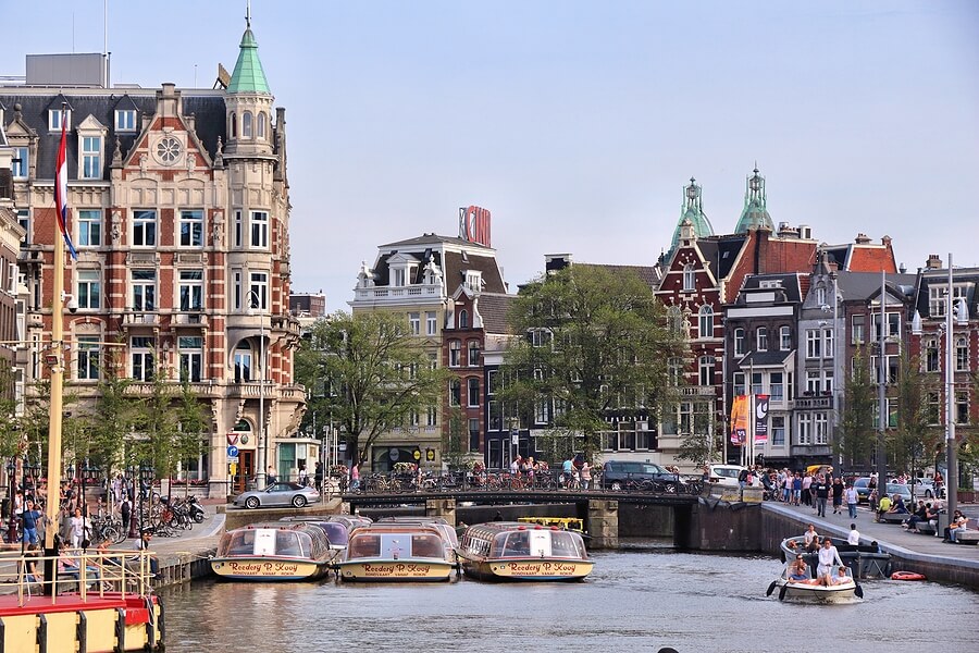
<path fill-rule="evenodd" d="M 820 535 L 829 534 L 845 541 L 850 534 L 850 525 L 856 523 L 856 528 L 860 532 L 862 544 L 869 544 L 872 540 L 877 540 L 883 551 L 903 558 L 954 563 L 979 569 L 979 545 L 943 543 L 941 533 L 935 538 L 934 535 L 909 533 L 901 528 L 900 523 L 877 523 L 873 521 L 873 514 L 867 507 L 857 508 L 857 518 L 851 519 L 846 512 L 842 515 L 833 515 L 831 506 L 827 508 L 826 517 L 816 517 L 816 512 L 808 506 L 792 506 L 773 501 L 767 501 L 763 506 L 767 510 L 792 515 L 803 522 L 815 523 L 816 532 Z M 966 505 L 964 512 L 975 515 L 976 506 Z M 975 516 L 969 517 L 969 526 L 970 529 L 975 529 Z M 803 530 L 801 529 L 800 533 Z"/>

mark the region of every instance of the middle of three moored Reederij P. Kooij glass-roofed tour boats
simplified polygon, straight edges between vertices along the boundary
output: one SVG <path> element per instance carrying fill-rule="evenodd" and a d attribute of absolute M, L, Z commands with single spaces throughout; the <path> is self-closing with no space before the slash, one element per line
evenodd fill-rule
<path fill-rule="evenodd" d="M 439 581 L 449 580 L 457 564 L 435 525 L 377 522 L 350 533 L 336 568 L 345 581 Z"/>

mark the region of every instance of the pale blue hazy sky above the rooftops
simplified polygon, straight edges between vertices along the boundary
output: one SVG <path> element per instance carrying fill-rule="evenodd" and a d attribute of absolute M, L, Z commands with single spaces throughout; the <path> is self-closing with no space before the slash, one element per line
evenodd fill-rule
<path fill-rule="evenodd" d="M 108 21 L 103 9 L 108 5 Z M 0 75 L 101 52 L 112 83 L 210 88 L 245 0 L 0 1 Z M 346 309 L 377 246 L 493 215 L 510 288 L 546 254 L 652 266 L 691 176 L 778 225 L 979 264 L 979 2 L 253 0 L 286 108 L 293 292 Z M 42 20 L 39 20 L 41 19 Z"/>

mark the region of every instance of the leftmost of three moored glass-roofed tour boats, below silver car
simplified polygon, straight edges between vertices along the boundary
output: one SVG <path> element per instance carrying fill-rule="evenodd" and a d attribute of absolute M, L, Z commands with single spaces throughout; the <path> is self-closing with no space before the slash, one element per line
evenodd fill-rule
<path fill-rule="evenodd" d="M 330 571 L 336 555 L 315 525 L 273 521 L 224 533 L 211 569 L 228 580 L 312 580 Z"/>

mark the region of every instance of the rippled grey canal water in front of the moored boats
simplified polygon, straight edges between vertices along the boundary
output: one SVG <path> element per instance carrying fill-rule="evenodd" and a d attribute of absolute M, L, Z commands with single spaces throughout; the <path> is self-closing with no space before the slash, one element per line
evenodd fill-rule
<path fill-rule="evenodd" d="M 571 584 L 244 584 L 162 593 L 166 650 L 680 653 L 979 651 L 979 593 L 866 581 L 846 605 L 780 603 L 780 565 L 669 550 L 596 553 Z"/>

